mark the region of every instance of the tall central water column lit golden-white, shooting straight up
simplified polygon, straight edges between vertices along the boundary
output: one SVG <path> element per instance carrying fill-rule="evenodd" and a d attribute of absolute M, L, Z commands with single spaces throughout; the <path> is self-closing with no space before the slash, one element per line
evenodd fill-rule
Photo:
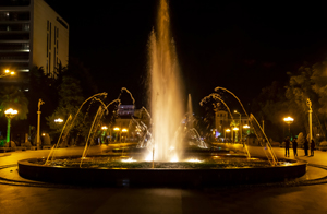
<path fill-rule="evenodd" d="M 183 117 L 181 81 L 175 47 L 170 34 L 169 5 L 160 0 L 157 28 L 149 40 L 150 111 L 155 160 L 175 158 L 182 139 L 178 134 Z"/>

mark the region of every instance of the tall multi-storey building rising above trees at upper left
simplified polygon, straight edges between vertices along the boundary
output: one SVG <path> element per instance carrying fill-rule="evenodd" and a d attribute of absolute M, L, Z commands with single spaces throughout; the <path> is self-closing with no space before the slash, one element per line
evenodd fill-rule
<path fill-rule="evenodd" d="M 69 61 L 69 24 L 44 0 L 0 1 L 0 73 L 16 75 L 0 79 L 28 91 L 29 71 L 43 67 L 56 78 L 58 64 Z"/>

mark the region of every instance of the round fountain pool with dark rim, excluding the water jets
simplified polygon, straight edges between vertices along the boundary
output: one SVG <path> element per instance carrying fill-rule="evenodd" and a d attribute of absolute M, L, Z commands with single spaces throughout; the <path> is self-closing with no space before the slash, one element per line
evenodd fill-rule
<path fill-rule="evenodd" d="M 19 162 L 22 177 L 33 180 L 106 186 L 227 186 L 283 181 L 303 176 L 306 163 L 284 159 L 271 166 L 264 158 L 211 156 L 193 162 L 134 162 L 130 157 L 57 157 Z"/>

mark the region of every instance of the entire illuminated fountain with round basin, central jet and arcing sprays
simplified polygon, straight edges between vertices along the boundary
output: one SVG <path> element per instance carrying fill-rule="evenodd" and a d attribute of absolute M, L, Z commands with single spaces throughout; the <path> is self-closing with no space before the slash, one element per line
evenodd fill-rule
<path fill-rule="evenodd" d="M 108 107 L 113 103 L 120 105 L 121 94 L 106 105 L 99 98 L 99 95 L 106 96 L 101 93 L 86 99 L 77 111 L 78 114 L 87 100 L 96 100 L 94 104 L 99 104 L 83 154 L 57 157 L 53 146 L 48 158 L 20 160 L 19 173 L 22 177 L 80 185 L 217 186 L 280 181 L 305 174 L 306 164 L 277 159 L 268 139 L 252 115 L 249 118 L 256 129 L 257 136 L 265 136 L 269 145 L 268 151 L 265 151 L 265 158 L 251 157 L 246 145 L 244 152 L 231 153 L 230 150 L 208 146 L 202 141 L 193 126 L 191 95 L 189 95 L 187 112 L 183 114 L 180 88 L 182 83 L 169 29 L 168 9 L 167 0 L 160 0 L 157 31 L 153 31 L 149 38 L 150 114 L 146 108 L 142 108 L 149 118 L 149 124 L 131 118 L 136 128 L 143 132 L 143 138 L 134 150 L 124 151 L 123 147 L 121 153 L 88 155 L 89 140 L 93 139 L 104 112 L 108 111 Z M 222 87 L 217 87 L 215 91 L 219 90 L 227 91 Z M 123 91 L 130 94 L 134 104 L 132 94 L 125 87 L 121 93 Z M 232 95 L 239 100 L 234 94 Z M 207 97 L 220 100 L 228 108 L 219 94 L 213 93 Z M 240 100 L 239 103 L 242 106 Z M 246 114 L 245 110 L 244 112 Z M 76 116 L 70 124 L 64 126 L 68 128 L 62 130 L 61 135 L 69 134 Z M 194 143 L 192 146 L 196 150 L 189 150 L 190 143 L 184 143 L 185 134 L 192 135 Z M 57 145 L 59 142 L 60 139 Z"/>

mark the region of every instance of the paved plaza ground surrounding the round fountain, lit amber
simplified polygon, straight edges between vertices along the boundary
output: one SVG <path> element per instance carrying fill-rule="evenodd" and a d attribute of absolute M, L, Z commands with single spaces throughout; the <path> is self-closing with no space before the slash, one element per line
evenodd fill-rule
<path fill-rule="evenodd" d="M 235 145 L 238 146 L 238 145 Z M 250 147 L 256 153 L 262 148 Z M 284 148 L 276 147 L 279 158 L 284 158 Z M 32 157 L 47 157 L 50 150 L 20 151 L 0 154 L 0 178 L 33 182 L 20 178 L 16 162 Z M 82 148 L 60 148 L 57 155 L 74 155 Z M 99 147 L 90 153 L 101 153 Z M 313 165 L 327 166 L 327 153 L 316 151 L 315 156 L 299 157 L 291 152 L 290 158 L 306 160 Z M 3 167 L 12 165 L 11 167 Z M 308 166 L 307 174 L 301 179 L 319 179 L 327 170 Z M 20 182 L 7 183 L 0 180 L 0 214 L 64 214 L 64 213 L 271 213 L 271 214 L 319 214 L 327 213 L 327 183 L 288 186 L 246 186 L 222 188 L 92 188 L 92 187 L 51 187 Z"/>

